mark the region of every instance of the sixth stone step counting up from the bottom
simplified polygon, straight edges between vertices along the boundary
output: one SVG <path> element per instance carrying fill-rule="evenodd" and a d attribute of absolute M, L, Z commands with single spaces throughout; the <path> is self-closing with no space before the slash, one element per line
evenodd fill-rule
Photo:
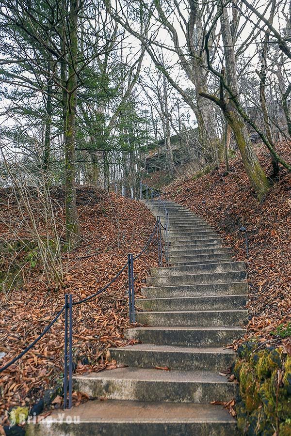
<path fill-rule="evenodd" d="M 136 307 L 144 311 L 210 311 L 243 309 L 247 295 L 168 297 L 137 299 Z"/>

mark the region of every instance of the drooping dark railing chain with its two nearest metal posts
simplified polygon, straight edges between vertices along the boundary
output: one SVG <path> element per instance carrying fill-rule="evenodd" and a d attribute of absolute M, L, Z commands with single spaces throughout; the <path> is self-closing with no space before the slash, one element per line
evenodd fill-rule
<path fill-rule="evenodd" d="M 102 292 L 106 291 L 117 278 L 128 268 L 128 293 L 129 293 L 129 322 L 130 324 L 135 323 L 135 308 L 134 308 L 134 269 L 133 264 L 136 259 L 138 259 L 149 247 L 151 241 L 154 238 L 158 229 L 158 225 L 156 223 L 152 233 L 149 236 L 149 239 L 145 245 L 145 247 L 136 255 L 133 256 L 132 253 L 128 254 L 127 263 L 121 268 L 120 271 L 116 274 L 116 276 L 107 283 L 102 289 L 99 289 L 96 293 L 82 298 L 79 301 L 73 302 L 72 294 L 65 295 L 65 304 L 58 311 L 52 321 L 49 323 L 47 327 L 44 328 L 42 333 L 30 344 L 28 345 L 18 356 L 13 358 L 10 362 L 0 368 L 0 373 L 8 369 L 11 365 L 16 363 L 17 360 L 22 358 L 26 353 L 28 353 L 32 347 L 38 343 L 46 333 L 49 332 L 51 327 L 58 321 L 62 313 L 65 311 L 65 349 L 64 349 L 64 409 L 70 408 L 72 406 L 72 385 L 73 385 L 73 352 L 72 352 L 72 340 L 73 340 L 73 307 L 79 304 L 86 303 L 92 298 L 98 296 Z"/>

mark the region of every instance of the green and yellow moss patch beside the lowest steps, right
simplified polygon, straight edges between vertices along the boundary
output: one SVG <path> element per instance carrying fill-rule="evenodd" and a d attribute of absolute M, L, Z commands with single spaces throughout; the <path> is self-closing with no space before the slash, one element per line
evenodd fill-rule
<path fill-rule="evenodd" d="M 282 348 L 240 346 L 233 373 L 239 381 L 236 412 L 243 435 L 291 436 L 291 356 Z"/>

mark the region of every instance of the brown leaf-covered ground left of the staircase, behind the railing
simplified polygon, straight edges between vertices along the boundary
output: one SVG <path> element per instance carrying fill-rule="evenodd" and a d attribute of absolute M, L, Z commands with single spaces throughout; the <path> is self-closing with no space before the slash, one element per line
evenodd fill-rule
<path fill-rule="evenodd" d="M 8 212 L 6 192 L 0 192 L 0 209 Z M 56 190 L 54 198 L 61 206 L 64 191 Z M 37 265 L 21 288 L 0 294 L 0 366 L 16 357 L 46 327 L 64 305 L 65 294 L 73 301 L 90 296 L 113 279 L 127 262 L 127 254 L 138 254 L 152 233 L 155 220 L 140 202 L 109 194 L 90 187 L 77 190 L 82 245 L 65 254 L 65 283 L 58 290 L 48 289 Z M 9 213 L 12 214 L 11 206 Z M 17 211 L 15 211 L 17 213 Z M 5 235 L 1 224 L 0 233 Z M 135 292 L 146 281 L 149 268 L 157 266 L 156 240 L 134 262 Z M 31 268 L 29 263 L 27 268 Z M 73 355 L 76 372 L 113 369 L 110 347 L 129 343 L 122 334 L 129 327 L 127 269 L 100 296 L 75 306 L 73 311 Z M 19 405 L 32 405 L 44 389 L 61 386 L 64 362 L 64 317 L 26 355 L 0 374 L 0 423 L 8 420 L 7 410 Z M 73 402 L 82 399 L 74 393 Z M 57 397 L 55 406 L 61 406 Z"/>

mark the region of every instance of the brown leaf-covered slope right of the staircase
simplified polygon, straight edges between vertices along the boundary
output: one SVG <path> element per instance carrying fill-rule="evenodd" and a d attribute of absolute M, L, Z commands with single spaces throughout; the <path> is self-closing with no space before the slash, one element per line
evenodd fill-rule
<path fill-rule="evenodd" d="M 268 151 L 257 147 L 259 160 L 271 172 Z M 290 146 L 278 145 L 287 161 Z M 243 170 L 242 159 L 196 180 L 172 183 L 165 198 L 182 204 L 203 217 L 233 249 L 236 260 L 245 261 L 249 283 L 249 323 L 244 339 L 282 344 L 291 354 L 291 174 L 282 169 L 262 204 L 256 199 Z M 205 203 L 204 203 L 205 202 Z M 246 257 L 241 227 L 247 229 Z M 284 336 L 286 336 L 284 338 Z M 240 341 L 234 344 L 237 348 Z"/>

